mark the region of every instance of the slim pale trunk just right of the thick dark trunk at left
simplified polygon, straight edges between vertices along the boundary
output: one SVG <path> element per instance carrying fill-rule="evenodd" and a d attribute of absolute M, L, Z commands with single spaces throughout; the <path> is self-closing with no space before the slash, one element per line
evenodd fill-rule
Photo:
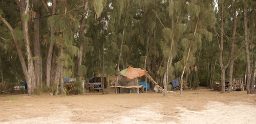
<path fill-rule="evenodd" d="M 56 14 L 56 8 L 57 8 L 57 1 L 53 0 L 52 2 L 52 15 Z M 52 67 L 52 57 L 53 57 L 53 48 L 55 43 L 52 41 L 53 37 L 55 35 L 55 26 L 51 25 L 51 35 L 50 35 L 50 45 L 48 50 L 48 56 L 46 60 L 46 85 L 50 87 L 51 83 L 51 67 Z"/>

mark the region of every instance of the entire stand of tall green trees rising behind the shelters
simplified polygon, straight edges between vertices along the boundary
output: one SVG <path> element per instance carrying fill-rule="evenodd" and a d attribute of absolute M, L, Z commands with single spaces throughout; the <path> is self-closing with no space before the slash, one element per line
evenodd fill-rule
<path fill-rule="evenodd" d="M 165 89 L 176 78 L 182 91 L 246 77 L 254 93 L 255 12 L 250 0 L 2 1 L 0 90 L 26 81 L 29 94 L 58 94 L 65 77 L 132 65 Z"/>

